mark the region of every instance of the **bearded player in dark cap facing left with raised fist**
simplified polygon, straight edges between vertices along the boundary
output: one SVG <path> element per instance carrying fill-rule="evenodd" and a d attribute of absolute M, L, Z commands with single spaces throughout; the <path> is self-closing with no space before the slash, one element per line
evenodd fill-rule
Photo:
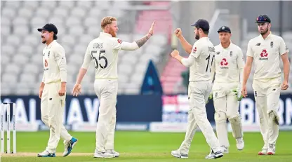
<path fill-rule="evenodd" d="M 190 83 L 188 88 L 190 111 L 187 117 L 187 132 L 180 148 L 171 151 L 171 154 L 177 158 L 188 158 L 192 138 L 197 126 L 199 126 L 208 145 L 211 147 L 211 153 L 206 158 L 220 158 L 223 156 L 223 153 L 213 128 L 207 119 L 205 106 L 211 93 L 211 67 L 215 48 L 208 38 L 210 28 L 208 21 L 199 19 L 192 26 L 194 26 L 195 39 L 198 40 L 194 43 L 194 46 L 185 40 L 181 29 L 175 29 L 175 36 L 178 37 L 183 48 L 190 56 L 183 58 L 178 50 L 173 50 L 171 53 L 171 56 L 182 65 L 190 67 Z"/>

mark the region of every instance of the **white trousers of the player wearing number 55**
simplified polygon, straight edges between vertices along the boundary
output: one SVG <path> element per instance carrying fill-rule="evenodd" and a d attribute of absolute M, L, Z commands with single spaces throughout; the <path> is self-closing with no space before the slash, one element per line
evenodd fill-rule
<path fill-rule="evenodd" d="M 117 79 L 95 79 L 94 90 L 100 100 L 96 149 L 105 152 L 108 149 L 114 149 L 118 81 Z"/>

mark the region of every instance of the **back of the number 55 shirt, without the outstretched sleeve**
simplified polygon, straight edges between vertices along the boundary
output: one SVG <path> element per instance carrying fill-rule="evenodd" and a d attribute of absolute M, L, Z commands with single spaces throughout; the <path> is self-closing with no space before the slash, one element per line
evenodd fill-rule
<path fill-rule="evenodd" d="M 86 53 L 91 55 L 95 66 L 95 79 L 117 79 L 118 50 L 114 50 L 116 38 L 100 33 L 88 45 Z"/>

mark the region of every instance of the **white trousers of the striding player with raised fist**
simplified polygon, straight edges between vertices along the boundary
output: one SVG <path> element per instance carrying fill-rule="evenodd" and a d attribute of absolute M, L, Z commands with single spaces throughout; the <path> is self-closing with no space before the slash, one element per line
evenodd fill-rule
<path fill-rule="evenodd" d="M 180 145 L 180 153 L 188 154 L 192 138 L 197 127 L 201 129 L 206 142 L 213 151 L 220 151 L 220 144 L 215 136 L 211 123 L 207 119 L 206 101 L 211 93 L 211 82 L 208 81 L 190 81 L 189 83 L 189 104 L 190 111 L 187 116 L 187 131 L 185 140 Z"/>

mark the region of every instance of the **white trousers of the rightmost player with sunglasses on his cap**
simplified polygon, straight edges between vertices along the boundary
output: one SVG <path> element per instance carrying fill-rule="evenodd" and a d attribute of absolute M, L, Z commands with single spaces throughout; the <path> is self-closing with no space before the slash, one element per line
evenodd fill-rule
<path fill-rule="evenodd" d="M 263 135 L 265 142 L 263 149 L 267 149 L 269 144 L 276 144 L 279 136 L 279 125 L 272 122 L 272 119 L 269 120 L 269 114 L 274 113 L 278 116 L 281 77 L 267 82 L 253 80 L 253 91 L 255 106 L 260 117 L 260 133 Z"/>

